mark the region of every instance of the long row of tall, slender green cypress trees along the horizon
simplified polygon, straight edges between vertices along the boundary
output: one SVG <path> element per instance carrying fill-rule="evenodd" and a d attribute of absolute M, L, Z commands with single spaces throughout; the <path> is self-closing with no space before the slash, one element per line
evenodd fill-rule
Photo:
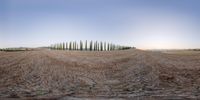
<path fill-rule="evenodd" d="M 112 50 L 125 50 L 130 49 L 131 47 L 128 46 L 120 46 L 115 45 L 113 43 L 106 43 L 106 42 L 98 42 L 98 41 L 85 41 L 85 45 L 83 45 L 84 42 L 76 42 L 76 41 L 70 41 L 70 42 L 63 42 L 63 43 L 57 43 L 52 44 L 50 46 L 51 50 L 80 50 L 80 51 L 112 51 Z"/>

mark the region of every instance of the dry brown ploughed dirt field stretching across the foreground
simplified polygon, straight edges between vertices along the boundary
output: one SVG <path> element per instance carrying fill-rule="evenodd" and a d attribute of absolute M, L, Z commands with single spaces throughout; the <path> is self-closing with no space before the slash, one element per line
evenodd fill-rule
<path fill-rule="evenodd" d="M 0 52 L 0 100 L 200 99 L 200 52 Z"/>

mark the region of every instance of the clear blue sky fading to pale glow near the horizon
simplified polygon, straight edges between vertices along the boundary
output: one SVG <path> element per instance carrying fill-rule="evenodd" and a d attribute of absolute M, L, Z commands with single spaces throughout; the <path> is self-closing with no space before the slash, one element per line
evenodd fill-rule
<path fill-rule="evenodd" d="M 93 40 L 200 48 L 200 0 L 0 0 L 0 48 Z"/>

